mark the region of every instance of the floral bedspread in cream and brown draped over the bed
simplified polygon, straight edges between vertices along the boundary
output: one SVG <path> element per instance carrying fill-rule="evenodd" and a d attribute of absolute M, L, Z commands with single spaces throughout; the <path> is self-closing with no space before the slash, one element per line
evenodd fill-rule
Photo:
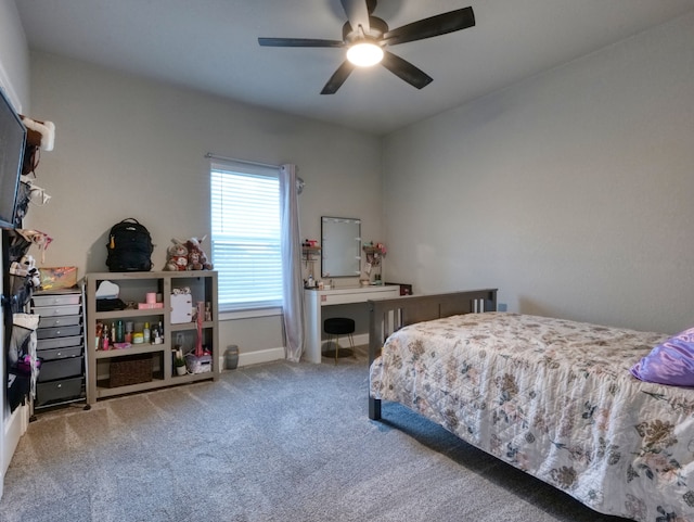
<path fill-rule="evenodd" d="M 518 314 L 404 327 L 372 365 L 401 403 L 606 514 L 694 522 L 694 389 L 629 369 L 668 335 Z"/>

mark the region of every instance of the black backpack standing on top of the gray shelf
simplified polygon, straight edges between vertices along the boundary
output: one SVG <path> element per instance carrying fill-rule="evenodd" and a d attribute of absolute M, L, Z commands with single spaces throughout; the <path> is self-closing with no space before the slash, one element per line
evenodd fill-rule
<path fill-rule="evenodd" d="M 112 272 L 152 270 L 152 235 L 137 219 L 127 218 L 111 228 L 106 266 Z"/>

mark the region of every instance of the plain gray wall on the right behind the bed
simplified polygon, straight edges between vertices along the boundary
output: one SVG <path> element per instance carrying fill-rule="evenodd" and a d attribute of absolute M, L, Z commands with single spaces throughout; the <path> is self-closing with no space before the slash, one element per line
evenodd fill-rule
<path fill-rule="evenodd" d="M 389 277 L 694 326 L 694 13 L 385 140 Z"/>

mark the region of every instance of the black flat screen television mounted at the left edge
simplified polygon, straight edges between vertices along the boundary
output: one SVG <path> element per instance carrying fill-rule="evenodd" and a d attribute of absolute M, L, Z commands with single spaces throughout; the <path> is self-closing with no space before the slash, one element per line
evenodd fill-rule
<path fill-rule="evenodd" d="M 0 88 L 0 227 L 15 228 L 26 128 Z"/>

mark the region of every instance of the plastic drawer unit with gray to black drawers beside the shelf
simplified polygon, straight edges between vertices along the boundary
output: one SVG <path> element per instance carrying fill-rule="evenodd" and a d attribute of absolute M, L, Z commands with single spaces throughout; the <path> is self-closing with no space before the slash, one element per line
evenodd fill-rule
<path fill-rule="evenodd" d="M 30 313 L 40 317 L 36 330 L 41 367 L 34 408 L 85 399 L 85 321 L 80 289 L 36 292 Z"/>

